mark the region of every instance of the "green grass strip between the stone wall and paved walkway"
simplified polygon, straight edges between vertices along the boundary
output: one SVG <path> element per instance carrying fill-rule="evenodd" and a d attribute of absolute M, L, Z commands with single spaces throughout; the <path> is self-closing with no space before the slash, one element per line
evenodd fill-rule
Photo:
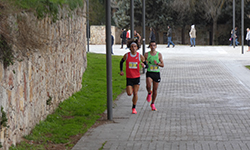
<path fill-rule="evenodd" d="M 112 56 L 113 100 L 126 87 L 126 77 L 118 74 L 121 57 Z M 87 59 L 82 89 L 60 103 L 53 114 L 24 137 L 25 141 L 10 150 L 71 149 L 75 138 L 81 138 L 100 118 L 107 108 L 106 55 L 88 53 Z"/>

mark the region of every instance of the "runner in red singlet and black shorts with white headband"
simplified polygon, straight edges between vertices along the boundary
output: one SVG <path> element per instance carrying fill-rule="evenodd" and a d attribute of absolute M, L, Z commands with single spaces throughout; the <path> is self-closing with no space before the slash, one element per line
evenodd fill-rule
<path fill-rule="evenodd" d="M 127 87 L 126 92 L 128 96 L 133 94 L 132 98 L 132 114 L 137 114 L 136 103 L 138 100 L 138 90 L 140 87 L 140 64 L 142 67 L 147 66 L 144 56 L 142 56 L 137 50 L 140 48 L 138 40 L 131 39 L 128 41 L 127 47 L 130 48 L 130 52 L 126 53 L 120 61 L 120 75 L 123 76 L 123 62 L 126 61 L 126 78 Z M 141 63 L 143 62 L 143 63 Z"/>

